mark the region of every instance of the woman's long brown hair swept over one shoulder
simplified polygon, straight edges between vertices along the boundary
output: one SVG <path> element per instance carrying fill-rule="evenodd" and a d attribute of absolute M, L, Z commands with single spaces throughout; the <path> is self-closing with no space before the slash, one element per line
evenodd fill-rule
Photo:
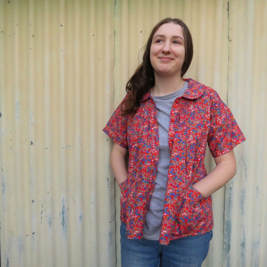
<path fill-rule="evenodd" d="M 140 99 L 155 85 L 154 69 L 150 62 L 150 47 L 153 36 L 158 28 L 165 23 L 174 23 L 182 27 L 184 42 L 185 42 L 185 58 L 182 66 L 181 77 L 187 72 L 192 57 L 193 57 L 193 41 L 189 29 L 186 24 L 177 18 L 165 18 L 160 21 L 151 31 L 151 34 L 147 40 L 145 46 L 145 52 L 143 55 L 143 62 L 135 70 L 133 76 L 126 84 L 126 92 L 128 97 L 123 101 L 121 105 L 121 113 L 123 116 L 128 114 L 134 114 L 140 107 Z"/>

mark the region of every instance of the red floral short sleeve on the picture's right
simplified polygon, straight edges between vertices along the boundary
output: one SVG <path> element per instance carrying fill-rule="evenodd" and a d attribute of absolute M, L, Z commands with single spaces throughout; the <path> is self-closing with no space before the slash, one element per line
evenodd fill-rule
<path fill-rule="evenodd" d="M 212 156 L 219 157 L 245 141 L 230 109 L 217 92 L 211 93 L 210 130 L 207 142 Z"/>

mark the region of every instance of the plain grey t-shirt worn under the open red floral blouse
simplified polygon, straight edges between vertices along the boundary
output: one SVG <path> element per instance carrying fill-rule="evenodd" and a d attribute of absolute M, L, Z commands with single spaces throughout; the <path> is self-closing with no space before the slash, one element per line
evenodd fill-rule
<path fill-rule="evenodd" d="M 157 107 L 157 120 L 159 125 L 159 163 L 156 175 L 156 184 L 152 194 L 150 207 L 146 214 L 143 237 L 149 240 L 159 240 L 160 228 L 163 218 L 164 199 L 170 165 L 170 151 L 168 132 L 170 113 L 174 100 L 186 91 L 188 82 L 178 91 L 166 96 L 152 96 Z"/>

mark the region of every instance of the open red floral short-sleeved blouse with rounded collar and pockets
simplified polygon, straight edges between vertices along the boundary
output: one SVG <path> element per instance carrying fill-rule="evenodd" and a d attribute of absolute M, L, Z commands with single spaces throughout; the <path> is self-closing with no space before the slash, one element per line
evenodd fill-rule
<path fill-rule="evenodd" d="M 207 175 L 206 144 L 213 157 L 218 157 L 245 140 L 218 93 L 192 79 L 185 80 L 189 82 L 187 91 L 174 101 L 170 114 L 170 167 L 159 238 L 163 245 L 213 228 L 211 196 L 202 198 L 192 187 Z M 127 237 L 140 239 L 159 161 L 157 108 L 150 92 L 140 100 L 133 116 L 121 116 L 120 106 L 103 131 L 129 150 L 128 177 L 120 185 L 120 219 L 126 223 Z"/>

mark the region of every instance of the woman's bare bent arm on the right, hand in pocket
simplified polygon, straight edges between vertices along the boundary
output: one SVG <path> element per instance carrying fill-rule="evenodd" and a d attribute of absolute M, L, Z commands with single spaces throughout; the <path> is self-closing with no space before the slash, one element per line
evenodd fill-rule
<path fill-rule="evenodd" d="M 229 182 L 236 172 L 234 151 L 214 158 L 216 167 L 205 178 L 193 184 L 203 197 L 208 197 Z"/>

